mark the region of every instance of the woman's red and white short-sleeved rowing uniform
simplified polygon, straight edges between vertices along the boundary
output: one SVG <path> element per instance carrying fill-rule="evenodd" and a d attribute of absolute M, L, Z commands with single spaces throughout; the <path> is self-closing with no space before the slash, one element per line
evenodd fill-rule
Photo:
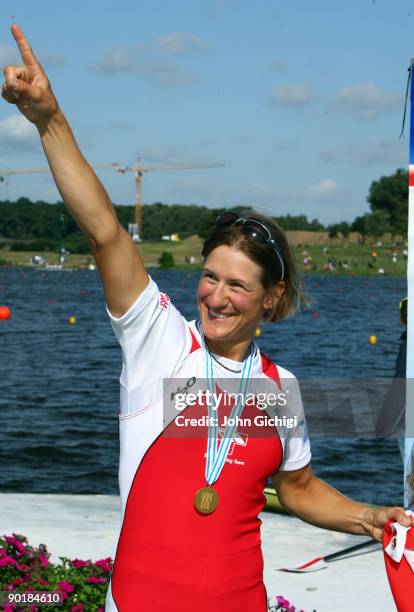
<path fill-rule="evenodd" d="M 223 470 L 213 485 L 217 509 L 194 507 L 205 486 L 207 430 L 177 435 L 165 423 L 163 379 L 169 395 L 181 382 L 205 379 L 202 334 L 188 323 L 151 280 L 120 318 L 108 311 L 122 347 L 119 485 L 122 528 L 106 612 L 264 612 L 267 610 L 260 545 L 263 489 L 277 470 L 296 470 L 310 461 L 310 446 L 295 377 L 254 347 L 251 376 L 290 393 L 300 415 L 291 430 L 267 427 L 263 437 L 237 429 Z M 217 356 L 218 357 L 218 356 Z M 218 359 L 232 369 L 240 364 Z M 235 378 L 214 363 L 216 379 Z M 174 388 L 175 385 L 175 388 Z M 180 415 L 199 416 L 188 406 Z M 242 416 L 260 413 L 256 405 Z M 250 432 L 251 434 L 251 432 Z"/>

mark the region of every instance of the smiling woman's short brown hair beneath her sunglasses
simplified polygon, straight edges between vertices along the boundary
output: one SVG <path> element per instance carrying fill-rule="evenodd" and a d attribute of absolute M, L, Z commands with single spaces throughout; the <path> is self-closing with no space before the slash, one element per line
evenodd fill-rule
<path fill-rule="evenodd" d="M 275 306 L 265 311 L 265 321 L 279 321 L 294 314 L 302 301 L 300 278 L 296 271 L 295 259 L 283 230 L 270 217 L 266 217 L 255 211 L 247 211 L 241 217 L 254 219 L 264 223 L 269 229 L 272 238 L 276 241 L 275 247 L 279 251 L 284 263 L 283 281 L 285 290 Z M 275 290 L 275 285 L 282 279 L 282 267 L 272 246 L 268 243 L 260 243 L 251 240 L 243 234 L 241 225 L 214 226 L 207 236 L 202 250 L 204 259 L 215 248 L 226 245 L 232 246 L 258 264 L 262 270 L 261 282 L 264 289 L 270 293 Z"/>

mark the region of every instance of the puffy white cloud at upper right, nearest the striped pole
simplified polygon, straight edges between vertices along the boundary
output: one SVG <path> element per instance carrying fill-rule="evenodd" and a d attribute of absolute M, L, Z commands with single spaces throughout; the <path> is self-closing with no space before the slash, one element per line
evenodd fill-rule
<path fill-rule="evenodd" d="M 344 87 L 336 92 L 332 100 L 332 106 L 362 120 L 374 119 L 379 113 L 393 111 L 399 104 L 400 96 L 387 94 L 369 82 Z"/>

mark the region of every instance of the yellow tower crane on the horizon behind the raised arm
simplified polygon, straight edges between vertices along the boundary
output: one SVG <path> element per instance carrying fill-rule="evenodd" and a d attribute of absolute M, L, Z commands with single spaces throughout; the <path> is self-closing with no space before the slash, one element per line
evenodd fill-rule
<path fill-rule="evenodd" d="M 115 172 L 125 174 L 126 172 L 133 172 L 135 175 L 135 215 L 134 223 L 129 224 L 129 232 L 132 239 L 135 242 L 141 240 L 142 237 L 142 177 L 145 172 L 158 172 L 165 170 L 196 170 L 199 168 L 224 168 L 225 164 L 222 163 L 182 163 L 173 164 L 166 162 L 162 166 L 142 166 L 141 159 L 137 159 L 135 166 L 121 166 L 121 164 L 114 162 L 112 164 L 97 164 L 92 166 L 96 170 L 102 170 L 105 168 L 113 168 Z M 11 170 L 0 169 L 0 182 L 4 181 L 7 176 L 13 176 L 16 174 L 40 174 L 50 172 L 49 168 L 18 168 Z"/>

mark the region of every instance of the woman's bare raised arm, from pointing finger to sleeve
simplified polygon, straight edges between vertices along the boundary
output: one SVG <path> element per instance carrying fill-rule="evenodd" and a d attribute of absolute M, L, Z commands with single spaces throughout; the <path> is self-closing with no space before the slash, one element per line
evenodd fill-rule
<path fill-rule="evenodd" d="M 59 193 L 91 245 L 108 307 L 119 317 L 148 285 L 144 263 L 83 157 L 21 28 L 13 24 L 11 31 L 22 65 L 5 67 L 2 96 L 37 127 Z"/>

